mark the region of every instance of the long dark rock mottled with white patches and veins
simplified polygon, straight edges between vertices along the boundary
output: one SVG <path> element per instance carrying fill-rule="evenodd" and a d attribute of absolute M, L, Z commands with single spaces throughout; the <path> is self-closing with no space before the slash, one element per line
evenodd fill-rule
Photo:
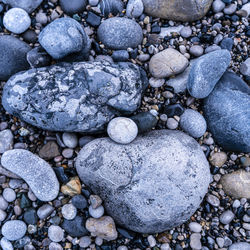
<path fill-rule="evenodd" d="M 43 129 L 96 132 L 115 114 L 133 113 L 147 87 L 131 63 L 80 62 L 32 69 L 4 86 L 5 109 Z"/>

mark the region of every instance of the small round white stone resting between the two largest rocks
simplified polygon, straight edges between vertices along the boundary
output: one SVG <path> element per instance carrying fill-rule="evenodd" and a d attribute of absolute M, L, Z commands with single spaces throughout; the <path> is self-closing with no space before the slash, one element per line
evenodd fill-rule
<path fill-rule="evenodd" d="M 109 122 L 107 133 L 113 141 L 120 144 L 128 144 L 136 138 L 138 127 L 129 118 L 117 117 Z"/>

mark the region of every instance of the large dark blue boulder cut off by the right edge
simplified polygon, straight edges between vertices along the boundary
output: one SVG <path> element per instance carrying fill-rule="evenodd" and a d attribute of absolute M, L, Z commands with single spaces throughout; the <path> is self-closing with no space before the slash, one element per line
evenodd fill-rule
<path fill-rule="evenodd" d="M 205 99 L 208 129 L 224 150 L 250 152 L 250 88 L 234 73 L 226 72 Z"/>

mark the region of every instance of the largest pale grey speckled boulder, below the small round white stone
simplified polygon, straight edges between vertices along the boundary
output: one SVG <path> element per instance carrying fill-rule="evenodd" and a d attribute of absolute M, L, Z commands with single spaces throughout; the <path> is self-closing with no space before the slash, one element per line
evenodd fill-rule
<path fill-rule="evenodd" d="M 198 143 L 169 130 L 147 133 L 129 145 L 96 139 L 80 151 L 76 169 L 118 224 L 142 233 L 184 223 L 200 205 L 210 179 Z"/>

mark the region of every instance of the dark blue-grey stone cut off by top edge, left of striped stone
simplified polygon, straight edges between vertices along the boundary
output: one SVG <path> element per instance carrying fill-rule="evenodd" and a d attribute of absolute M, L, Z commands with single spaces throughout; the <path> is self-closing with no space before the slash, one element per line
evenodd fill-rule
<path fill-rule="evenodd" d="M 73 15 L 84 11 L 87 6 L 87 0 L 60 0 L 59 4 L 66 14 Z"/>

